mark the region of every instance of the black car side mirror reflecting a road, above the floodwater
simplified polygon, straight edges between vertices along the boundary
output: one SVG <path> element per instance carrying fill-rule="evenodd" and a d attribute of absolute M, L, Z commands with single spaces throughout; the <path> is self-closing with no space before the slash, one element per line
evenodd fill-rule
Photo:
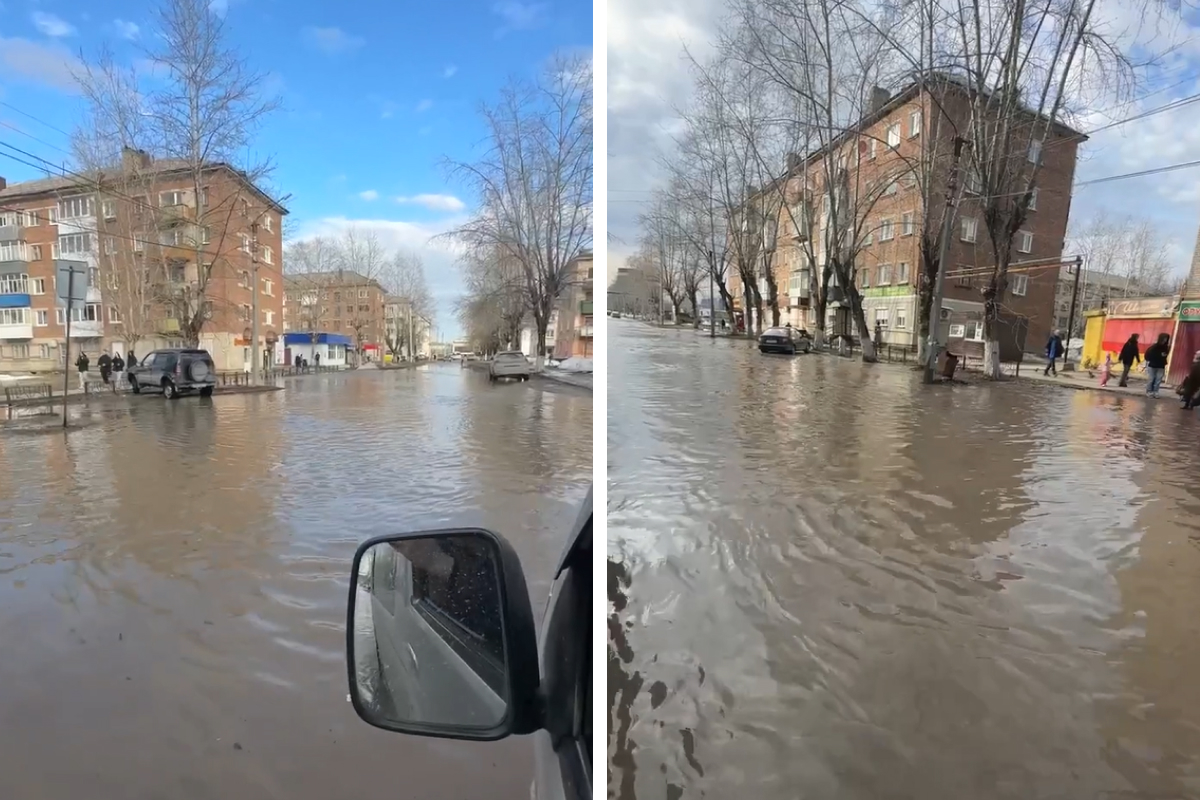
<path fill-rule="evenodd" d="M 538 632 L 521 561 L 498 534 L 380 536 L 354 554 L 350 702 L 419 736 L 491 741 L 542 727 Z"/>

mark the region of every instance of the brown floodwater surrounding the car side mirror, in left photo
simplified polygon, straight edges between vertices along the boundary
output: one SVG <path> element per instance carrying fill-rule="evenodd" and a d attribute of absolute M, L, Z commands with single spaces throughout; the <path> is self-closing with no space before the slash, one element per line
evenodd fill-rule
<path fill-rule="evenodd" d="M 486 525 L 540 615 L 592 398 L 458 366 L 0 428 L 0 795 L 524 798 L 530 742 L 415 739 L 347 702 L 358 542 Z"/>

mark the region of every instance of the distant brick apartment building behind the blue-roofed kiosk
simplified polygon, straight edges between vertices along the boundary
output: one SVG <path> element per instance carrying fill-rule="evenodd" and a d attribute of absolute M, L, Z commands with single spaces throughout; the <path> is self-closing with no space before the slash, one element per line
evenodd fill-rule
<path fill-rule="evenodd" d="M 360 356 L 382 359 L 386 347 L 388 293 L 354 270 L 284 277 L 283 330 L 349 336 Z"/>

